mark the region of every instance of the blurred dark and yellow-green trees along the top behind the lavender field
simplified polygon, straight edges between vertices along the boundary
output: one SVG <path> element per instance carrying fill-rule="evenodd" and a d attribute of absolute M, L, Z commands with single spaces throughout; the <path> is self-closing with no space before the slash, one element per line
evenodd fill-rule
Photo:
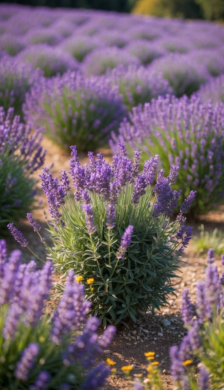
<path fill-rule="evenodd" d="M 5 0 L 5 3 L 14 2 Z M 16 3 L 133 12 L 168 18 L 224 20 L 224 0 L 17 0 Z"/>

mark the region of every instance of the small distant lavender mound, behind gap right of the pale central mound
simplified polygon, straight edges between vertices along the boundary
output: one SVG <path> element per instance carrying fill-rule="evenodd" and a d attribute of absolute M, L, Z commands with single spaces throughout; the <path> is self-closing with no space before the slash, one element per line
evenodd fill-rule
<path fill-rule="evenodd" d="M 126 46 L 126 50 L 135 55 L 143 65 L 165 55 L 165 51 L 160 49 L 157 43 L 147 42 L 145 39 L 136 39 Z"/>

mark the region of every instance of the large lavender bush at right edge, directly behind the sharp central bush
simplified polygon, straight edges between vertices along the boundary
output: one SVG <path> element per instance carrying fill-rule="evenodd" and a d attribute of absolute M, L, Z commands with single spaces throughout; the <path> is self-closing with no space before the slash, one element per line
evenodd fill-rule
<path fill-rule="evenodd" d="M 142 148 L 143 160 L 158 153 L 166 175 L 171 165 L 179 166 L 174 188 L 182 186 L 180 202 L 190 189 L 197 191 L 191 213 L 198 215 L 215 207 L 223 196 L 223 115 L 222 103 L 213 108 L 196 96 L 159 97 L 133 108 L 130 122 L 121 123 L 119 136 L 112 134 L 110 145 L 114 152 L 118 142 L 127 142 L 131 151 Z"/>

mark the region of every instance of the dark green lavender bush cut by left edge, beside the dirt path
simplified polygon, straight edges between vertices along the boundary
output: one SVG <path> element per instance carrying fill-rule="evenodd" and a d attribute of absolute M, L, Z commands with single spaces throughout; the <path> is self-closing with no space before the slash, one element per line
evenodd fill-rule
<path fill-rule="evenodd" d="M 13 117 L 13 108 L 5 114 L 0 107 L 0 234 L 7 223 L 18 221 L 31 210 L 36 184 L 32 173 L 44 163 L 40 132 Z"/>

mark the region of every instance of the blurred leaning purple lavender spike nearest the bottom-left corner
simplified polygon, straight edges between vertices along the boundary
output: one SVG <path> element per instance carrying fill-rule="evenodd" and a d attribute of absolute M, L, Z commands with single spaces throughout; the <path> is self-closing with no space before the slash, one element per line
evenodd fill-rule
<path fill-rule="evenodd" d="M 35 358 L 39 353 L 39 346 L 32 342 L 24 349 L 19 362 L 16 365 L 15 376 L 17 379 L 26 381 L 29 378 L 30 371 L 35 365 Z"/>

